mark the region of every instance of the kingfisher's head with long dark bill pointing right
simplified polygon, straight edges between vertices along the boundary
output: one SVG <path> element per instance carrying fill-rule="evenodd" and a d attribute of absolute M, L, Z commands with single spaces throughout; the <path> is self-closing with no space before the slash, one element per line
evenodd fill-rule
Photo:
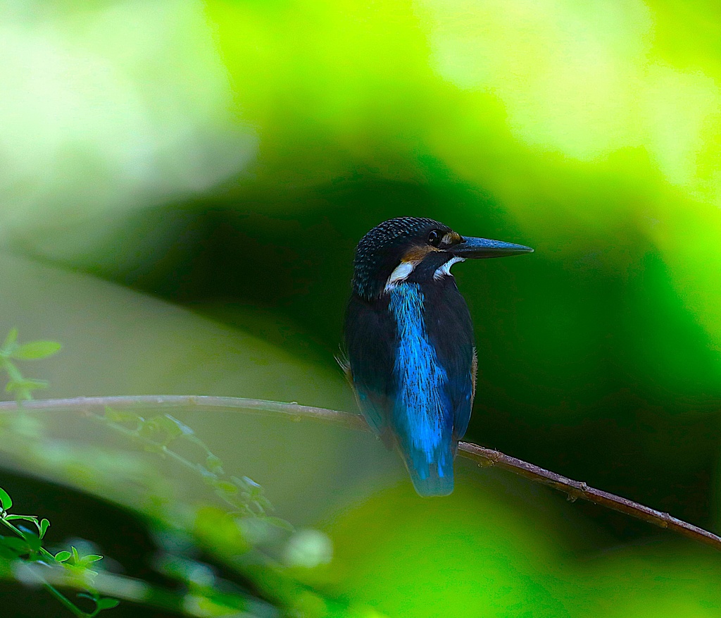
<path fill-rule="evenodd" d="M 487 238 L 461 236 L 423 217 L 398 217 L 373 227 L 355 248 L 353 290 L 371 300 L 401 282 L 423 282 L 450 274 L 466 258 L 502 258 L 533 249 Z"/>

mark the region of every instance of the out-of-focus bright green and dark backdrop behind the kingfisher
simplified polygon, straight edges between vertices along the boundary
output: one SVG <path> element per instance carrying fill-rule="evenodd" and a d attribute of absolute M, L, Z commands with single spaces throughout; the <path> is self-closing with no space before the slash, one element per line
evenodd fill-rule
<path fill-rule="evenodd" d="M 63 342 L 48 396 L 353 410 L 333 357 L 355 243 L 433 217 L 536 249 L 454 269 L 479 349 L 467 438 L 718 529 L 717 3 L 3 11 L 0 325 Z M 710 550 L 501 471 L 460 462 L 452 497 L 421 500 L 368 436 L 182 420 L 329 534 L 314 585 L 363 615 L 721 611 Z"/>

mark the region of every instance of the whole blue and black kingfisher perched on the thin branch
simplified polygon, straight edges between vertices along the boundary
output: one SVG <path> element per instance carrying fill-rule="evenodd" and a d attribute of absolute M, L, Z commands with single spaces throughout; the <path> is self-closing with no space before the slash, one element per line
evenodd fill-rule
<path fill-rule="evenodd" d="M 419 495 L 453 491 L 476 388 L 471 315 L 451 266 L 531 251 L 420 217 L 383 222 L 355 249 L 344 369 L 368 425 L 398 448 Z"/>

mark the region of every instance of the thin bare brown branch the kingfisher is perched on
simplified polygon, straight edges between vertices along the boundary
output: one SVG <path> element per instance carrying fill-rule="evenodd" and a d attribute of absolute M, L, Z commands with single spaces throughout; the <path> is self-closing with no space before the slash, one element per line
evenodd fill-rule
<path fill-rule="evenodd" d="M 115 410 L 120 409 L 216 409 L 244 412 L 271 412 L 275 414 L 284 414 L 291 419 L 319 419 L 328 422 L 339 423 L 353 429 L 369 430 L 368 425 L 359 414 L 350 414 L 348 412 L 340 412 L 338 410 L 329 410 L 325 408 L 314 408 L 311 406 L 301 406 L 296 403 L 284 404 L 279 401 L 265 401 L 263 399 L 244 399 L 240 397 L 208 397 L 208 396 L 192 396 L 192 395 L 160 395 L 160 396 L 128 396 L 128 397 L 76 397 L 74 399 L 45 399 L 40 401 L 27 401 L 23 404 L 23 408 L 27 410 L 37 410 L 45 412 L 85 412 L 96 413 L 104 412 L 105 408 L 110 407 Z M 13 412 L 18 406 L 14 401 L 0 402 L 0 413 Z M 688 536 L 690 539 L 701 541 L 707 545 L 711 545 L 716 549 L 721 549 L 721 536 L 717 536 L 712 532 L 686 523 L 668 513 L 661 513 L 653 508 L 641 505 L 638 502 L 627 500 L 627 498 L 616 496 L 609 492 L 603 492 L 601 489 L 588 487 L 584 482 L 567 479 L 565 476 L 556 474 L 555 472 L 543 469 L 534 464 L 528 464 L 526 461 L 509 457 L 499 451 L 490 448 L 461 442 L 459 451 L 462 457 L 476 461 L 482 466 L 495 466 L 523 476 L 531 481 L 548 485 L 553 489 L 564 492 L 570 500 L 588 500 L 616 510 L 619 513 L 630 515 L 631 517 L 653 523 L 661 528 L 668 528 Z"/>

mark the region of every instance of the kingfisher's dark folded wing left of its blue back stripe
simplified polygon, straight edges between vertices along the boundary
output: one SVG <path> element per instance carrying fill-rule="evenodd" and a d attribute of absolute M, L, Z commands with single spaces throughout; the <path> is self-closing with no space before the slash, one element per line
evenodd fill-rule
<path fill-rule="evenodd" d="M 345 352 L 358 406 L 368 425 L 392 443 L 389 418 L 396 385 L 393 375 L 396 329 L 388 300 L 368 303 L 353 295 L 345 315 Z"/>

